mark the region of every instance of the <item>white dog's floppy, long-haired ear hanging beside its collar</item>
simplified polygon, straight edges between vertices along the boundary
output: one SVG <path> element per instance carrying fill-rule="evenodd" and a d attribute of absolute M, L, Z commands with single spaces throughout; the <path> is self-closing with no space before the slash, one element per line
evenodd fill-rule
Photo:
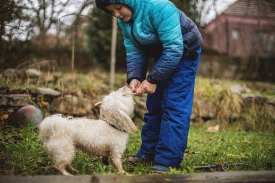
<path fill-rule="evenodd" d="M 133 124 L 131 118 L 127 116 L 121 109 L 117 109 L 112 114 L 114 123 L 118 128 L 126 132 L 135 132 L 137 127 Z"/>

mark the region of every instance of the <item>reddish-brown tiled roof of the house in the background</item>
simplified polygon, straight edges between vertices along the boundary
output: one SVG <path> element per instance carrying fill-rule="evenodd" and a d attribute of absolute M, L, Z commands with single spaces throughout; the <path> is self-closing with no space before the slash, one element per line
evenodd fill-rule
<path fill-rule="evenodd" d="M 275 19 L 275 0 L 237 0 L 224 14 Z"/>

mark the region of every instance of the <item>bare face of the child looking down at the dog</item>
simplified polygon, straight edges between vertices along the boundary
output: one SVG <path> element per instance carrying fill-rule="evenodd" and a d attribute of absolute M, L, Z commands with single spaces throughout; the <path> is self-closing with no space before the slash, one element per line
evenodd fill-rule
<path fill-rule="evenodd" d="M 129 21 L 132 15 L 131 9 L 124 4 L 109 4 L 106 9 L 116 18 Z"/>

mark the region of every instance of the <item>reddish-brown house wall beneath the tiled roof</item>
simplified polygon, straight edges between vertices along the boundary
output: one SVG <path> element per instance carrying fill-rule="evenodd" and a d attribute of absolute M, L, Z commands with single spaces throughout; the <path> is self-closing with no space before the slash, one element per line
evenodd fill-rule
<path fill-rule="evenodd" d="M 261 44 L 266 41 L 259 42 L 261 39 L 256 38 L 262 35 L 260 32 L 268 34 L 271 38 L 275 35 L 275 25 L 272 22 L 274 21 L 268 19 L 221 14 L 205 26 L 203 43 L 204 46 L 222 53 L 246 57 L 262 47 Z M 268 37 L 265 39 L 270 40 Z"/>

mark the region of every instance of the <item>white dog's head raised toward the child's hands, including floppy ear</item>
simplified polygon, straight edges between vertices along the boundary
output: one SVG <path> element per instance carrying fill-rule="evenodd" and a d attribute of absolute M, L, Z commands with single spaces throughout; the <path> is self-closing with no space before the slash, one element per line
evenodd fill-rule
<path fill-rule="evenodd" d="M 134 132 L 137 127 L 131 118 L 134 115 L 133 93 L 124 86 L 102 99 L 99 119 L 104 120 L 121 131 Z"/>

